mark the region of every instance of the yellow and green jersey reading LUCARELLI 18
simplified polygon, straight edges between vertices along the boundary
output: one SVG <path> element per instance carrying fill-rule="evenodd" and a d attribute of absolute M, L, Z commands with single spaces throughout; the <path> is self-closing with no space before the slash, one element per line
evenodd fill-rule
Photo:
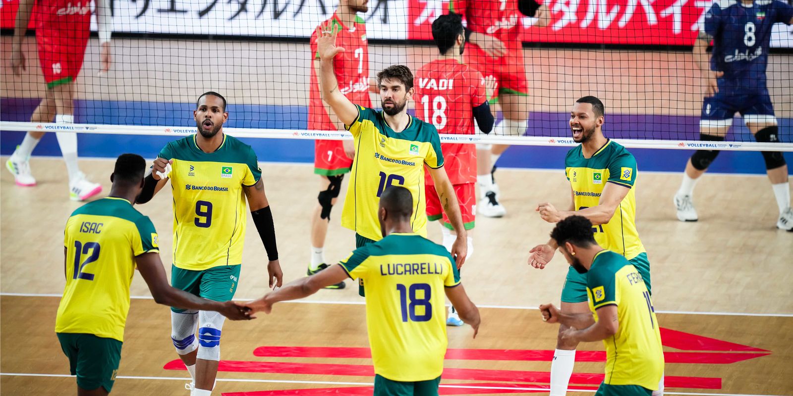
<path fill-rule="evenodd" d="M 366 283 L 374 372 L 393 381 L 438 378 L 446 355 L 446 292 L 460 273 L 446 248 L 419 234 L 390 234 L 342 267 Z"/>

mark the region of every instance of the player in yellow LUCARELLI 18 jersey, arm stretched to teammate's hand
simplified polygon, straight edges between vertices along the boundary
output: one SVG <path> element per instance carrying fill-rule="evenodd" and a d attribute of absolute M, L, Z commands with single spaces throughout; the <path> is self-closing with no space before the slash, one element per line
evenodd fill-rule
<path fill-rule="evenodd" d="M 274 303 L 304 298 L 347 276 L 365 280 L 375 396 L 437 395 L 448 344 L 443 295 L 473 327 L 473 337 L 480 318 L 450 253 L 412 230 L 415 207 L 407 188 L 385 188 L 377 211 L 384 238 L 245 305 L 269 314 Z"/>

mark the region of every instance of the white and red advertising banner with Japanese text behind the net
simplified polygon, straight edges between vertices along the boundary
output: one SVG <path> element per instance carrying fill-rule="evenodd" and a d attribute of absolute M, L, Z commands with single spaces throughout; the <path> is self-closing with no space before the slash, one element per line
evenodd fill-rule
<path fill-rule="evenodd" d="M 116 32 L 308 37 L 331 17 L 334 0 L 107 0 Z M 504 0 L 516 1 L 516 0 Z M 539 43 L 692 45 L 712 0 L 541 0 L 550 24 L 515 15 L 521 40 Z M 13 28 L 19 0 L 2 0 L 0 26 Z M 91 6 L 74 0 L 72 6 Z M 366 36 L 431 40 L 431 24 L 448 0 L 370 0 Z M 95 25 L 94 25 L 95 29 Z M 771 47 L 793 48 L 793 28 L 776 24 Z"/>

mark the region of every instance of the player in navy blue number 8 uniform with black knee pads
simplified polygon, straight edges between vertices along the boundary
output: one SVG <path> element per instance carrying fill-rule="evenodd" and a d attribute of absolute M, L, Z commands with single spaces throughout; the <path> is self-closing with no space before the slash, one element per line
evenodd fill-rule
<path fill-rule="evenodd" d="M 701 140 L 723 141 L 738 112 L 758 142 L 780 141 L 765 76 L 771 29 L 777 22 L 793 25 L 793 6 L 778 0 L 719 0 L 707 10 L 694 45 L 695 62 L 707 82 L 699 121 Z M 706 48 L 711 40 L 709 67 Z M 718 150 L 697 150 L 691 155 L 674 199 L 680 221 L 699 219 L 691 195 L 697 179 L 717 155 Z M 793 231 L 785 159 L 779 151 L 764 151 L 763 158 L 780 209 L 776 227 Z"/>

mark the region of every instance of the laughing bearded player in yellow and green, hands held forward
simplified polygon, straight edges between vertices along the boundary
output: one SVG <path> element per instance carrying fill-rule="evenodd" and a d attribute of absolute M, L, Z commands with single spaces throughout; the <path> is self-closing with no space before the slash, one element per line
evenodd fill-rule
<path fill-rule="evenodd" d="M 569 211 L 559 211 L 550 203 L 535 209 L 548 223 L 558 223 L 571 215 L 581 215 L 594 224 L 595 239 L 600 246 L 622 254 L 638 268 L 649 291 L 649 261 L 636 230 L 636 159 L 625 147 L 603 136 L 603 102 L 592 96 L 576 101 L 570 112 L 573 140 L 580 143 L 569 150 L 565 158 L 565 173 L 570 181 L 573 205 Z M 551 238 L 535 246 L 529 253 L 529 264 L 545 268 L 554 257 L 558 245 Z M 573 314 L 588 312 L 586 276 L 567 272 L 561 291 L 561 310 Z M 577 342 L 562 337 L 566 326 L 559 328 L 556 351 L 550 369 L 550 394 L 564 395 L 573 374 Z"/>

